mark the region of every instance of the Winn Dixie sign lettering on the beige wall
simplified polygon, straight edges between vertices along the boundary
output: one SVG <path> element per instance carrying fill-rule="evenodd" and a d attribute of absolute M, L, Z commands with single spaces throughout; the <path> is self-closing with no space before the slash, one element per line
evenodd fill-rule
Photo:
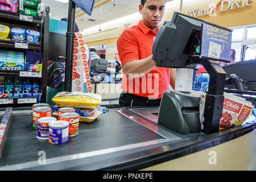
<path fill-rule="evenodd" d="M 253 0 L 220 0 L 218 4 L 210 3 L 207 9 L 200 9 L 199 7 L 189 9 L 189 15 L 199 17 L 204 15 L 216 16 L 218 7 L 220 12 L 234 9 L 241 9 L 243 7 L 253 5 Z"/>

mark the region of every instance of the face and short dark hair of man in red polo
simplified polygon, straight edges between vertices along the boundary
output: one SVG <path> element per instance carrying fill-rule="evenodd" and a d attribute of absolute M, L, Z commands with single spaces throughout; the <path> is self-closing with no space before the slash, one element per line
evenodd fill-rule
<path fill-rule="evenodd" d="M 148 28 L 156 31 L 163 15 L 166 0 L 147 0 L 144 6 L 139 5 L 139 13 L 142 14 L 142 23 Z"/>

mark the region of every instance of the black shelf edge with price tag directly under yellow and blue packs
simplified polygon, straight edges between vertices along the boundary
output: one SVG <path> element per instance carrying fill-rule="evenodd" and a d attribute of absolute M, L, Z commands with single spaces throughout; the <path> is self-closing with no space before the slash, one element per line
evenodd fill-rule
<path fill-rule="evenodd" d="M 0 47 L 27 49 L 27 50 L 35 50 L 35 51 L 40 51 L 41 49 L 41 46 L 38 44 L 20 43 L 20 42 L 14 42 L 9 40 L 0 40 Z"/>

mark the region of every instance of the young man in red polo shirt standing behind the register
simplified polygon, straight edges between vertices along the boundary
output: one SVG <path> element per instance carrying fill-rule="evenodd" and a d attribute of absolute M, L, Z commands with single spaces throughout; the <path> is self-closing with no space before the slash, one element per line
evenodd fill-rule
<path fill-rule="evenodd" d="M 155 67 L 152 46 L 166 0 L 141 0 L 142 20 L 123 31 L 117 41 L 123 75 L 121 106 L 159 106 L 163 92 L 175 87 L 175 69 Z"/>

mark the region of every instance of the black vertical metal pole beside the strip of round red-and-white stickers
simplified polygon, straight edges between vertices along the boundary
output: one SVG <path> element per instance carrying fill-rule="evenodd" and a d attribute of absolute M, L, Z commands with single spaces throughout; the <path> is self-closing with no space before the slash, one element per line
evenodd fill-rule
<path fill-rule="evenodd" d="M 68 31 L 67 31 L 67 46 L 66 46 L 66 61 L 65 61 L 65 87 L 64 90 L 72 92 L 72 71 L 73 71 L 73 48 L 75 39 L 75 13 L 76 4 L 69 1 L 68 4 Z"/>

